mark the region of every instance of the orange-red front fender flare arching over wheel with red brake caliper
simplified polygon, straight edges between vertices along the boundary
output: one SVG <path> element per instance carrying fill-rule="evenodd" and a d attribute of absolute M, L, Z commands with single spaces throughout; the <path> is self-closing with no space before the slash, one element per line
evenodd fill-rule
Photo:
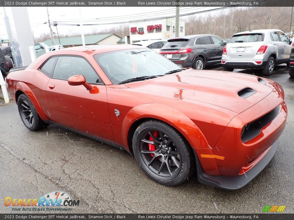
<path fill-rule="evenodd" d="M 158 119 L 170 124 L 189 142 L 205 173 L 220 175 L 215 159 L 200 157 L 201 154 L 213 155 L 212 148 L 209 146 L 201 130 L 188 116 L 183 114 L 183 112 L 169 105 L 159 103 L 142 104 L 132 108 L 126 114 L 122 124 L 122 137 L 127 151 L 130 152 L 130 147 L 132 147 L 128 145 L 128 133 L 131 126 L 137 120 L 144 118 Z"/>

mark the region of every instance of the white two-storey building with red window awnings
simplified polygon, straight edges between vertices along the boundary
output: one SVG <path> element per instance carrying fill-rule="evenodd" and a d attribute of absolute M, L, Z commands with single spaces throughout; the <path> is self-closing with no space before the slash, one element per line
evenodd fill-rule
<path fill-rule="evenodd" d="M 185 22 L 180 20 L 179 37 L 185 36 Z M 130 24 L 130 43 L 141 40 L 168 40 L 175 38 L 175 18 L 140 21 Z"/>

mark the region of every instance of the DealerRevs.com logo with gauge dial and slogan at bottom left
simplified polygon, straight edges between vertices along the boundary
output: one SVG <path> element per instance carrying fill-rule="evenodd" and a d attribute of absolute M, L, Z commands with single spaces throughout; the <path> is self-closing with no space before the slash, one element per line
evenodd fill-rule
<path fill-rule="evenodd" d="M 72 211 L 80 200 L 73 200 L 70 194 L 57 191 L 47 193 L 39 199 L 15 199 L 5 197 L 4 205 L 12 206 L 12 211 Z"/>

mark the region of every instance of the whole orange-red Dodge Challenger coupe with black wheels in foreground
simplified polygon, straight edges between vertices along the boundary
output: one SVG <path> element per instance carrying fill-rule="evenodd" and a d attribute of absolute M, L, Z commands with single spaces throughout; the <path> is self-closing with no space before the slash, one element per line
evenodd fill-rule
<path fill-rule="evenodd" d="M 30 130 L 50 123 L 123 147 L 154 181 L 239 189 L 269 163 L 287 117 L 279 84 L 179 69 L 136 45 L 46 53 L 6 79 Z"/>

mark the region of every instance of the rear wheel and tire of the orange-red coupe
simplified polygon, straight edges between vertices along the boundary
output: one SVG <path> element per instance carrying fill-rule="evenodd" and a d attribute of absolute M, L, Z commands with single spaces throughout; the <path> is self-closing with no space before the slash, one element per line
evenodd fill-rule
<path fill-rule="evenodd" d="M 21 94 L 18 97 L 17 106 L 21 120 L 25 127 L 27 127 L 29 130 L 39 130 L 49 125 L 43 122 L 43 120 L 38 115 L 35 106 L 25 94 Z"/>

